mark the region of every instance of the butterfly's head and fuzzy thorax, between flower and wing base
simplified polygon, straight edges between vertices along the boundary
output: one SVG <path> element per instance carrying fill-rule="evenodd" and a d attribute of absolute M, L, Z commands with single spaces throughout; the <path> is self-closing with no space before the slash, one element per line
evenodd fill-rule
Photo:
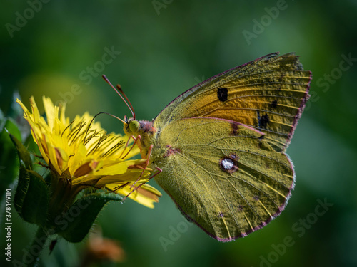
<path fill-rule="evenodd" d="M 153 122 L 149 120 L 133 120 L 130 118 L 126 124 L 124 124 L 124 133 L 128 136 L 134 136 L 137 138 L 140 135 L 139 147 L 141 147 L 141 157 L 147 157 L 149 147 L 153 144 L 156 128 L 153 126 Z"/>

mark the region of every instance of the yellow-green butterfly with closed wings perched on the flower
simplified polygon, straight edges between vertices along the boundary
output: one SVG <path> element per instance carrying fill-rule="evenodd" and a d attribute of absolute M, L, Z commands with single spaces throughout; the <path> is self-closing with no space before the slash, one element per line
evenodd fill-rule
<path fill-rule="evenodd" d="M 285 151 L 311 77 L 294 53 L 271 53 L 199 83 L 152 121 L 125 117 L 124 132 L 186 219 L 233 241 L 266 226 L 291 196 Z"/>

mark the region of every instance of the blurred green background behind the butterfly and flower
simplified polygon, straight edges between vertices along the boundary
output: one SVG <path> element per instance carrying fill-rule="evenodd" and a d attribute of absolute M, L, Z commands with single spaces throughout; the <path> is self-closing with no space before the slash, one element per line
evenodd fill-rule
<path fill-rule="evenodd" d="M 267 53 L 295 51 L 313 72 L 312 97 L 288 148 L 297 182 L 281 216 L 244 239 L 223 244 L 183 219 L 164 193 L 155 209 L 131 200 L 111 203 L 96 224 L 104 236 L 121 242 L 126 252 L 121 266 L 357 266 L 357 60 L 340 65 L 342 55 L 357 58 L 357 2 L 286 0 L 286 9 L 270 21 L 266 10 L 281 0 L 159 3 L 164 6 L 156 11 L 152 1 L 52 0 L 11 38 L 6 23 L 16 25 L 16 12 L 23 15 L 29 4 L 1 0 L 1 109 L 9 108 L 12 93 L 19 90 L 27 106 L 31 95 L 38 104 L 41 95 L 54 102 L 66 98 L 71 118 L 87 110 L 130 115 L 101 79 L 105 73 L 121 84 L 137 117 L 151 120 L 177 95 L 212 75 Z M 265 26 L 247 41 L 243 31 L 253 33 L 254 20 Z M 86 73 L 101 66 L 104 49 L 112 47 L 120 55 L 104 70 Z M 121 132 L 121 122 L 109 116 L 99 120 L 107 130 Z M 318 199 L 333 206 L 314 216 Z M 12 258 L 21 260 L 35 228 L 14 209 L 12 219 Z M 306 226 L 301 219 L 307 219 Z M 161 238 L 169 239 L 172 229 L 182 233 L 162 246 Z M 274 247 L 287 236 L 293 245 L 278 255 Z M 45 251 L 44 266 L 77 266 L 85 243 L 59 241 L 51 256 Z M 0 257 L 2 265 L 3 253 Z"/>

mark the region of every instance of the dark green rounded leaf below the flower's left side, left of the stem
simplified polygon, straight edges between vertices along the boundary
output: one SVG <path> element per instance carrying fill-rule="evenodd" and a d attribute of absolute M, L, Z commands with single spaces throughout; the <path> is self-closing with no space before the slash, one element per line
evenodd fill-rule
<path fill-rule="evenodd" d="M 44 226 L 49 206 L 49 189 L 44 179 L 31 170 L 20 167 L 14 206 L 25 221 Z"/>

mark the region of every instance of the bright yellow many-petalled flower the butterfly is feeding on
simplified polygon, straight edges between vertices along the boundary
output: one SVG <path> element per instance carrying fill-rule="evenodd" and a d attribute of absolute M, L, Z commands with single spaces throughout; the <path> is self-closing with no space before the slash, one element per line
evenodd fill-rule
<path fill-rule="evenodd" d="M 159 201 L 161 193 L 144 184 L 149 181 L 150 170 L 145 169 L 141 175 L 146 159 L 131 159 L 139 154 L 139 148 L 132 147 L 132 141 L 127 144 L 129 137 L 107 134 L 88 113 L 77 115 L 70 122 L 64 115 L 65 105 L 55 106 L 46 97 L 43 101 L 46 120 L 39 114 L 33 97 L 30 98 L 32 112 L 20 100 L 17 103 L 24 110 L 24 118 L 31 126 L 32 137 L 51 169 L 52 177 L 57 179 L 51 181 L 57 200 L 61 199 L 59 195 L 66 194 L 68 201 L 73 201 L 76 194 L 88 187 L 106 188 L 126 196 L 143 184 L 129 198 L 154 207 L 154 201 Z"/>

